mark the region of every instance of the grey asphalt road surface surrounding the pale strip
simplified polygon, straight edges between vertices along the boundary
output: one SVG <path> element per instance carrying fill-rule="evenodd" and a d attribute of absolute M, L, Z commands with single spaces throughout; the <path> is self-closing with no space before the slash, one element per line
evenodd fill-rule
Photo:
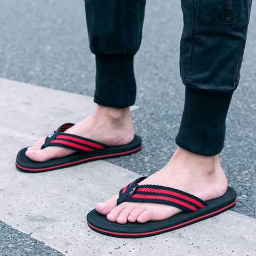
<path fill-rule="evenodd" d="M 89 50 L 84 1 L 0 0 L 0 6 L 0 77 L 93 96 L 95 63 Z M 240 84 L 231 102 L 221 153 L 229 185 L 238 194 L 233 211 L 251 218 L 256 218 L 255 27 L 253 5 Z M 108 162 L 150 175 L 175 151 L 185 91 L 179 76 L 181 31 L 178 0 L 147 1 L 141 49 L 135 57 L 135 105 L 140 108 L 132 114 L 143 149 Z M 61 255 L 3 222 L 0 226 L 0 255 Z M 4 254 L 12 239 L 28 239 L 34 247 L 20 254 L 9 247 Z"/>

